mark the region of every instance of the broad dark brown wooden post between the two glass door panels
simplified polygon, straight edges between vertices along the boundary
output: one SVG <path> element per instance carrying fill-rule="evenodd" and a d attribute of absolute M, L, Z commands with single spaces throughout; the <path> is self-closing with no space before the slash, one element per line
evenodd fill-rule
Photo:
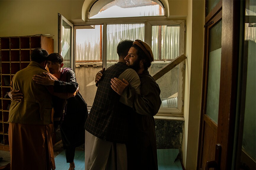
<path fill-rule="evenodd" d="M 231 169 L 237 111 L 241 1 L 223 1 L 220 100 L 216 143 L 221 146 L 220 170 Z M 226 10 L 225 10 L 226 9 Z"/>

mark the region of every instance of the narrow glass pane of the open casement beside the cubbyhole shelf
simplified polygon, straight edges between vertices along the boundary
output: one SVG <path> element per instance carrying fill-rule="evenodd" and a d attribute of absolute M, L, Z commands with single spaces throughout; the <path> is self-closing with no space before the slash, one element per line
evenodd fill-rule
<path fill-rule="evenodd" d="M 63 57 L 63 68 L 71 68 L 71 30 L 72 27 L 64 20 L 62 21 L 62 40 L 61 40 L 61 55 Z"/>

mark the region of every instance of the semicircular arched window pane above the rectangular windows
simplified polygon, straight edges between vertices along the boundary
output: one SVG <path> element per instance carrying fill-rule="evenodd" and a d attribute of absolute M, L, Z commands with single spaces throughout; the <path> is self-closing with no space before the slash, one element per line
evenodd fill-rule
<path fill-rule="evenodd" d="M 89 11 L 89 19 L 163 15 L 160 1 L 151 0 L 98 0 Z"/>

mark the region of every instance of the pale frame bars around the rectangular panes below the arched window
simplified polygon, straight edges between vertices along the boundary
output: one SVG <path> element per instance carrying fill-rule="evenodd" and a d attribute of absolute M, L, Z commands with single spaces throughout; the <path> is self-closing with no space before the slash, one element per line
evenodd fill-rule
<path fill-rule="evenodd" d="M 165 10 L 164 10 L 165 11 Z M 109 24 L 145 24 L 145 42 L 152 46 L 152 26 L 155 25 L 179 25 L 180 26 L 180 44 L 179 55 L 185 52 L 185 20 L 169 20 L 166 16 L 143 16 L 143 17 L 120 17 L 120 18 L 98 18 L 88 19 L 85 23 L 75 26 L 76 29 L 92 25 L 103 25 L 102 37 L 102 66 L 107 67 L 107 25 Z M 76 31 L 75 31 L 76 32 Z M 74 36 L 76 37 L 76 36 Z M 74 50 L 75 51 L 75 50 Z M 178 57 L 178 56 L 177 56 Z M 160 108 L 156 116 L 175 116 L 183 117 L 183 98 L 184 98 L 184 61 L 179 64 L 178 71 L 178 107 L 177 108 Z M 151 72 L 151 67 L 149 67 Z"/>

